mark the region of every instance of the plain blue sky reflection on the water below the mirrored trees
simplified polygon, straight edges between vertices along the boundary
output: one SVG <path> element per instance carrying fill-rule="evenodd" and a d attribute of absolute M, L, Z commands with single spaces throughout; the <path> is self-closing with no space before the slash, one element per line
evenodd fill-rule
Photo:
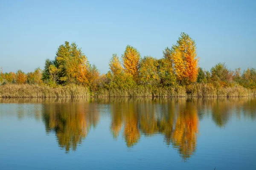
<path fill-rule="evenodd" d="M 184 163 L 172 144 L 166 145 L 162 134 L 141 135 L 139 142 L 128 148 L 122 127 L 118 138 L 113 139 L 110 108 L 106 105 L 100 109 L 98 124 L 77 150 L 65 154 L 58 147 L 55 133 L 46 135 L 44 122 L 35 116 L 35 113 L 42 113 L 42 106 L 0 104 L 0 169 L 143 167 L 203 170 L 216 167 L 229 170 L 256 167 L 255 120 L 239 117 L 234 112 L 223 127 L 218 127 L 212 116 L 205 113 L 200 120 L 195 155 Z"/>

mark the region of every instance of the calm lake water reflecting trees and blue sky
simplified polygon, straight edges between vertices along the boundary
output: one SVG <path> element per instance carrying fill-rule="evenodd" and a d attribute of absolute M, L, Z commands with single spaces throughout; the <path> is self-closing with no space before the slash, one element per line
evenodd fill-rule
<path fill-rule="evenodd" d="M 0 99 L 0 170 L 256 169 L 256 98 Z"/>

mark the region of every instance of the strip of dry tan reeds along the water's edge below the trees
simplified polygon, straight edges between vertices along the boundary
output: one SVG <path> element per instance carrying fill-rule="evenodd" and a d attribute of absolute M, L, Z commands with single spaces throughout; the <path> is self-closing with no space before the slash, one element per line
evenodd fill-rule
<path fill-rule="evenodd" d="M 90 91 L 79 85 L 66 85 L 52 88 L 47 85 L 17 85 L 6 84 L 0 86 L 0 97 L 242 97 L 256 96 L 256 90 L 244 88 L 240 85 L 233 87 L 215 88 L 211 84 L 195 83 L 189 86 L 175 87 L 145 87 L 136 86 L 128 90 L 99 89 Z"/>

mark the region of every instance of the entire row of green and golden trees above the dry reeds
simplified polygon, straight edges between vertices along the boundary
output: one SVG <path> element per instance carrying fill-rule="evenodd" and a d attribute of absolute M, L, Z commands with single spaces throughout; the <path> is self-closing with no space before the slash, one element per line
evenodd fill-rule
<path fill-rule="evenodd" d="M 1 74 L 0 82 L 42 84 L 50 86 L 77 84 L 89 86 L 92 91 L 99 88 L 128 89 L 135 85 L 143 86 L 175 86 L 192 83 L 210 83 L 215 87 L 232 86 L 238 83 L 245 88 L 256 88 L 256 70 L 241 69 L 231 71 L 225 63 L 218 63 L 210 71 L 198 66 L 195 41 L 188 34 L 181 33 L 172 48 L 165 48 L 163 57 L 141 57 L 140 52 L 127 45 L 121 59 L 116 54 L 109 62 L 110 71 L 100 75 L 95 65 L 88 62 L 87 57 L 76 43 L 65 42 L 60 45 L 54 60 L 47 59 L 44 70 L 35 69 L 28 74 Z"/>

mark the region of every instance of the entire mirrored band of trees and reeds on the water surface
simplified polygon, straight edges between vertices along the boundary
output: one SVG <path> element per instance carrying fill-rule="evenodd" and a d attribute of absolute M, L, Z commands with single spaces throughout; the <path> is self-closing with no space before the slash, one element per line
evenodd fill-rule
<path fill-rule="evenodd" d="M 122 135 L 126 146 L 134 147 L 142 136 L 161 135 L 163 142 L 175 148 L 184 161 L 196 152 L 199 120 L 205 116 L 220 128 L 225 128 L 233 115 L 256 119 L 255 98 L 0 99 L 0 103 L 41 105 L 41 110 L 34 109 L 35 118 L 43 120 L 46 133 L 54 133 L 66 153 L 76 150 L 90 129 L 97 127 L 100 116 L 107 115 L 114 140 Z M 26 116 L 22 109 L 17 113 L 20 119 Z"/>

